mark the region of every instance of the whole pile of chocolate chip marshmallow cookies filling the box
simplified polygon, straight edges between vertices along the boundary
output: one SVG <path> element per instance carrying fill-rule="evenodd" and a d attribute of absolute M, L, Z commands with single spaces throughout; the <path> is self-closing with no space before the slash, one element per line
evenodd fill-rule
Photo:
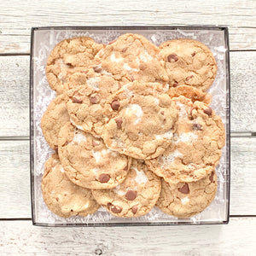
<path fill-rule="evenodd" d="M 203 211 L 225 142 L 206 92 L 216 73 L 212 52 L 195 40 L 157 47 L 124 34 L 108 45 L 57 44 L 46 75 L 58 96 L 41 122 L 56 152 L 42 180 L 49 209 L 63 218 L 100 206 L 123 218 L 155 205 L 178 218 Z"/>

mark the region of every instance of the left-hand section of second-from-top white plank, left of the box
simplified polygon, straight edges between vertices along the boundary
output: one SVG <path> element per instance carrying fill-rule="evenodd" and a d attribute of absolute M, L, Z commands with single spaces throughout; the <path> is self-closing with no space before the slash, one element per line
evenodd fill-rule
<path fill-rule="evenodd" d="M 0 137 L 29 134 L 29 56 L 0 56 Z"/>

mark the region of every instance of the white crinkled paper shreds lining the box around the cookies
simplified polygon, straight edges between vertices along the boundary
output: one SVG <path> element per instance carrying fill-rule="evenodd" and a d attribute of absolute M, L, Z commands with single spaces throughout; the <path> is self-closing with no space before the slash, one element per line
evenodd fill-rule
<path fill-rule="evenodd" d="M 73 217 L 73 218 L 60 218 L 54 213 L 50 212 L 48 207 L 44 204 L 43 195 L 41 191 L 41 179 L 44 173 L 44 162 L 53 154 L 53 150 L 44 140 L 41 131 L 40 122 L 44 111 L 49 105 L 49 102 L 56 96 L 55 91 L 50 90 L 47 82 L 44 69 L 46 61 L 51 49 L 55 44 L 59 43 L 65 38 L 73 38 L 78 36 L 89 36 L 94 38 L 96 42 L 108 44 L 119 35 L 125 32 L 136 32 L 142 34 L 156 45 L 161 44 L 166 40 L 173 38 L 192 38 L 206 44 L 211 50 L 218 63 L 218 74 L 208 90 L 212 94 L 212 109 L 218 113 L 223 119 L 224 125 L 227 128 L 226 110 L 228 108 L 226 97 L 229 93 L 226 80 L 226 59 L 225 59 L 225 42 L 224 31 L 221 30 L 196 30 L 196 29 L 175 29 L 175 30 L 121 30 L 121 29 L 108 29 L 108 30 L 37 30 L 34 32 L 33 42 L 33 129 L 34 129 L 34 170 L 33 180 L 34 183 L 34 221 L 39 224 L 121 224 L 121 223 L 166 223 L 179 222 L 187 223 L 220 223 L 226 219 L 228 211 L 228 166 L 229 160 L 227 157 L 226 146 L 223 148 L 223 155 L 220 163 L 216 169 L 218 174 L 218 191 L 215 200 L 203 212 L 195 215 L 193 218 L 177 219 L 175 217 L 166 215 L 159 209 L 155 208 L 147 215 L 140 218 L 116 218 L 108 213 L 104 208 L 100 208 L 96 213 L 87 217 Z M 227 131 L 227 129 L 226 129 Z M 227 136 L 228 137 L 228 136 Z"/>

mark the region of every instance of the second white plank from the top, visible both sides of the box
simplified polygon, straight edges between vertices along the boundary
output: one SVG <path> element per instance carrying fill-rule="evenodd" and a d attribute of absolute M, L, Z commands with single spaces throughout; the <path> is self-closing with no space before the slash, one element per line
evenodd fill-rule
<path fill-rule="evenodd" d="M 256 51 L 231 52 L 231 130 L 256 131 Z M 0 56 L 0 137 L 29 135 L 29 56 Z"/>

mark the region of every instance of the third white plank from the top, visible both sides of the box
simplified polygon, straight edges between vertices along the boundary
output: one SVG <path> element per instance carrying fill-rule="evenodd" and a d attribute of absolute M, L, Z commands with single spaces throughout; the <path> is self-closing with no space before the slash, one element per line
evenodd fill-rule
<path fill-rule="evenodd" d="M 256 215 L 256 137 L 231 139 L 231 215 Z M 0 218 L 31 218 L 29 142 L 0 141 Z"/>

